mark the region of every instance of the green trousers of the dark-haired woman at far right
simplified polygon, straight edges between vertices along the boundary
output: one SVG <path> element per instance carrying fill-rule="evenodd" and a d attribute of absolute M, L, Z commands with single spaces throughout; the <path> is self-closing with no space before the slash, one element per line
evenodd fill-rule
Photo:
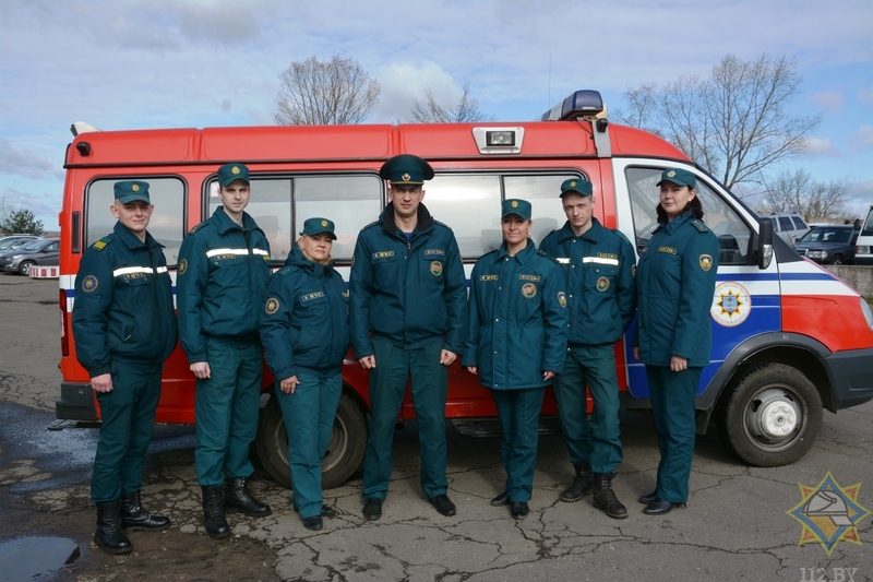
<path fill-rule="evenodd" d="M 703 368 L 680 372 L 668 366 L 646 366 L 651 414 L 658 430 L 658 487 L 660 499 L 684 503 L 689 498 L 691 462 L 694 459 L 694 421 L 697 385 Z"/>

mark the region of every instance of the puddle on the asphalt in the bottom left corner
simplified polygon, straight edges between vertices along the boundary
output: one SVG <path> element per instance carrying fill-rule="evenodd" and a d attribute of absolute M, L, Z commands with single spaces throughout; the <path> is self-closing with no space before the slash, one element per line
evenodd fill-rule
<path fill-rule="evenodd" d="M 0 582 L 49 580 L 81 555 L 75 542 L 65 537 L 20 537 L 0 542 Z"/>

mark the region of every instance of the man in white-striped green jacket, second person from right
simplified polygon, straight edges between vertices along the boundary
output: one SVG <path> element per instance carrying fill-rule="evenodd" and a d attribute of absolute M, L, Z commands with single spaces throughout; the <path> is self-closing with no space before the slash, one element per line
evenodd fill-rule
<path fill-rule="evenodd" d="M 540 250 L 555 258 L 566 274 L 570 341 L 564 371 L 552 382 L 558 416 L 575 476 L 562 501 L 594 492 L 594 507 L 614 519 L 627 509 L 612 490 L 623 451 L 619 428 L 619 382 L 614 344 L 636 311 L 636 254 L 619 230 L 593 216 L 591 182 L 571 178 L 561 185 L 567 222 L 550 233 Z M 586 385 L 594 409 L 588 421 Z"/>

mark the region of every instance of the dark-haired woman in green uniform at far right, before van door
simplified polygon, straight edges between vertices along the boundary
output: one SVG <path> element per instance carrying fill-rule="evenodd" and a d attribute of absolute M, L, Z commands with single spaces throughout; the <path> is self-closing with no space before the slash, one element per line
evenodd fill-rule
<path fill-rule="evenodd" d="M 718 238 L 702 221 L 694 175 L 661 174 L 659 226 L 639 253 L 634 357 L 646 365 L 658 431 L 657 487 L 639 498 L 643 513 L 684 507 L 694 458 L 695 394 L 713 344 L 709 309 L 718 271 Z"/>

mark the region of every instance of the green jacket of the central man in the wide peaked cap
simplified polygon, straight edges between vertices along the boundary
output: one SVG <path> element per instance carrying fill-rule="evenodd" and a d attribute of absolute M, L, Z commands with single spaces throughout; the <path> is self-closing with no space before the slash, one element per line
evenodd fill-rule
<path fill-rule="evenodd" d="M 467 285 L 452 229 L 418 207 L 407 242 L 388 204 L 358 235 L 349 277 L 351 346 L 360 359 L 373 354 L 370 332 L 416 349 L 442 342 L 464 349 Z M 444 337 L 444 338 L 443 338 Z"/>

